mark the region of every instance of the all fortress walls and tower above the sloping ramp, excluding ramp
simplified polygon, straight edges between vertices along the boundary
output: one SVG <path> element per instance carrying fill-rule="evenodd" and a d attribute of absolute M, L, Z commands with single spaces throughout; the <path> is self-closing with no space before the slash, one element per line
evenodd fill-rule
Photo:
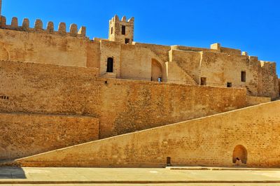
<path fill-rule="evenodd" d="M 49 22 L 44 30 L 41 20 L 30 28 L 27 19 L 18 26 L 13 17 L 8 25 L 1 16 L 0 25 L 0 125 L 9 126 L 4 136 L 10 139 L 0 139 L 1 160 L 279 97 L 274 63 L 218 43 L 211 48 L 136 43 L 133 17 L 113 17 L 109 39 L 93 40 L 76 24 L 67 33 L 64 23 L 54 31 Z M 83 138 L 76 130 L 83 130 Z M 23 136 L 38 141 L 33 150 L 25 148 Z"/>

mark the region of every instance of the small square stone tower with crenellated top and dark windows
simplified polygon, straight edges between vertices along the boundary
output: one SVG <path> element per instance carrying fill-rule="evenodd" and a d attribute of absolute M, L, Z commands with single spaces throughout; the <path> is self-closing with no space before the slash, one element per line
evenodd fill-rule
<path fill-rule="evenodd" d="M 122 20 L 115 15 L 109 21 L 109 40 L 125 44 L 131 44 L 134 38 L 134 17 L 127 21 L 124 16 Z"/>

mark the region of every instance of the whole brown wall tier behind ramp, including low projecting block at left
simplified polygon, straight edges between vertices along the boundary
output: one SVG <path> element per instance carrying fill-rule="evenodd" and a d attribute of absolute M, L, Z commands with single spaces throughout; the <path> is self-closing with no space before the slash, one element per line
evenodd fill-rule
<path fill-rule="evenodd" d="M 241 88 L 97 78 L 98 69 L 75 66 L 12 61 L 0 61 L 0 66 L 0 113 L 5 115 L 0 117 L 0 125 L 8 126 L 0 135 L 1 159 L 246 106 L 246 90 Z M 93 122 L 85 123 L 84 117 Z M 46 133 L 48 124 L 52 129 Z M 77 138 L 75 129 L 83 135 L 82 139 Z M 67 138 L 61 137 L 64 133 Z M 49 140 L 44 141 L 42 148 L 34 145 L 34 150 L 30 150 L 24 148 L 29 145 L 28 140 L 19 143 L 23 136 L 38 143 Z"/>

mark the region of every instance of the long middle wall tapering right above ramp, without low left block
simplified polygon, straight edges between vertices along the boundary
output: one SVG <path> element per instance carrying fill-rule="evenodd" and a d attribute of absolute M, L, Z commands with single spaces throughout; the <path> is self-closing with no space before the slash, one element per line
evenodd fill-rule
<path fill-rule="evenodd" d="M 0 61 L 0 111 L 88 115 L 99 137 L 246 106 L 246 90 L 96 78 L 98 69 Z M 0 97 L 1 97 L 0 96 Z"/>

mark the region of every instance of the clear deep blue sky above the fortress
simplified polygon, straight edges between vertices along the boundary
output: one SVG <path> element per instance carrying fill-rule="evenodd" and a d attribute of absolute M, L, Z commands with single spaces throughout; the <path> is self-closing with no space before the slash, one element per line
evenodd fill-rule
<path fill-rule="evenodd" d="M 134 40 L 162 45 L 239 48 L 261 60 L 278 62 L 280 1 L 246 0 L 2 0 L 2 14 L 87 27 L 90 38 L 108 37 L 113 15 L 135 17 Z"/>

